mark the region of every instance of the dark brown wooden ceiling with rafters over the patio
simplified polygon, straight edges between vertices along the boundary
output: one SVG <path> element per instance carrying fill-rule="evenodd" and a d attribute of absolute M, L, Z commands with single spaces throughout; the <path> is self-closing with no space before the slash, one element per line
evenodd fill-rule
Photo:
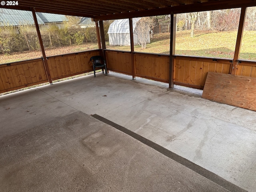
<path fill-rule="evenodd" d="M 1 6 L 110 20 L 141 16 L 256 6 L 256 0 L 19 0 L 18 6 Z"/>

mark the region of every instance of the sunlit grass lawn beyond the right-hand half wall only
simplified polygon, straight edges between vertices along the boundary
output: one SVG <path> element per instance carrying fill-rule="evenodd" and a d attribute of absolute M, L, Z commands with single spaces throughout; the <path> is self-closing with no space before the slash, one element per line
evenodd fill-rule
<path fill-rule="evenodd" d="M 237 31 L 212 32 L 195 31 L 195 36 L 190 37 L 190 31 L 176 32 L 175 54 L 188 56 L 202 56 L 210 58 L 234 57 Z M 169 54 L 170 34 L 154 34 L 151 43 L 146 49 L 134 46 L 136 52 Z M 108 46 L 109 49 L 130 51 L 130 46 Z M 256 60 L 256 31 L 244 31 L 240 58 Z"/>

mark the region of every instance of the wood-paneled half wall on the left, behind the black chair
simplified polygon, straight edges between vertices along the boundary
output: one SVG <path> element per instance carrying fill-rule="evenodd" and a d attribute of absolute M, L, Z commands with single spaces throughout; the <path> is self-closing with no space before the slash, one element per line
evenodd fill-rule
<path fill-rule="evenodd" d="M 100 50 L 48 57 L 52 80 L 93 71 L 91 56 Z M 48 82 L 42 58 L 0 65 L 0 93 Z"/>

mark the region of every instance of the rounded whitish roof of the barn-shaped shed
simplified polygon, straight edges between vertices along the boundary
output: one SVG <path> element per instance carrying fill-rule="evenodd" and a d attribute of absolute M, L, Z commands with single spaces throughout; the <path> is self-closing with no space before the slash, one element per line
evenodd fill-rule
<path fill-rule="evenodd" d="M 140 17 L 132 19 L 133 31 L 136 27 L 136 23 L 140 19 L 141 19 Z M 113 34 L 113 33 L 130 33 L 129 19 L 114 20 L 114 22 L 112 24 L 110 24 L 110 26 L 108 28 L 108 34 Z"/>

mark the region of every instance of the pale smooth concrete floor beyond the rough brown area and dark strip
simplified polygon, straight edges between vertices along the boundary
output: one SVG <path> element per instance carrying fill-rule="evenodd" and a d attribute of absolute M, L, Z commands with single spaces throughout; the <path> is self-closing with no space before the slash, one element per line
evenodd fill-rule
<path fill-rule="evenodd" d="M 98 114 L 256 191 L 256 112 L 201 95 L 113 72 L 56 82 L 0 96 L 0 140 L 77 111 Z"/>

